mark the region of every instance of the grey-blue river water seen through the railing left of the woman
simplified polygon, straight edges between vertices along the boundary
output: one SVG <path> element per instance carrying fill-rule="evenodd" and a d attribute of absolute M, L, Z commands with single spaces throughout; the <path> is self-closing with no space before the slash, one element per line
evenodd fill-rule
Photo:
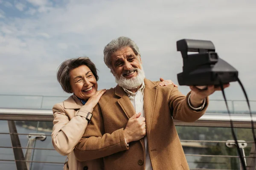
<path fill-rule="evenodd" d="M 36 133 L 36 130 L 30 130 L 24 127 L 16 126 L 18 133 Z M 8 122 L 0 121 L 0 133 L 9 133 Z M 50 135 L 50 132 L 40 132 Z M 27 146 L 27 136 L 19 135 L 21 147 Z M 9 134 L 0 134 L 0 147 L 12 147 L 12 142 Z M 37 140 L 35 147 L 37 148 L 52 148 L 51 136 L 47 136 L 45 141 Z M 25 156 L 25 149 L 23 153 Z M 1 160 L 14 160 L 14 154 L 12 148 L 0 148 L 0 159 Z M 63 162 L 66 157 L 61 156 L 55 150 L 35 150 L 33 161 L 49 161 L 49 162 Z M 63 164 L 49 164 L 49 163 L 32 163 L 30 170 L 61 170 Z M 14 161 L 0 161 L 0 170 L 16 170 L 16 164 Z"/>

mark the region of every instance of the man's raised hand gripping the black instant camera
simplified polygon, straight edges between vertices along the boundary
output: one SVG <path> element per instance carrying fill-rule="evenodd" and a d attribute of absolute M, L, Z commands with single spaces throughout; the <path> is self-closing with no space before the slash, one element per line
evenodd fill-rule
<path fill-rule="evenodd" d="M 223 85 L 223 88 L 229 87 L 230 84 Z M 202 105 L 204 102 L 204 99 L 213 94 L 215 91 L 221 91 L 221 87 L 214 87 L 214 85 L 208 85 L 208 86 L 189 86 L 191 89 L 191 96 L 190 96 L 190 102 L 191 105 L 195 108 Z"/>

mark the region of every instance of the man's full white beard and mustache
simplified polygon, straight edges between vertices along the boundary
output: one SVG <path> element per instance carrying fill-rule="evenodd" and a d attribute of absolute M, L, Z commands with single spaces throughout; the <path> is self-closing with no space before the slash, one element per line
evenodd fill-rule
<path fill-rule="evenodd" d="M 133 77 L 131 79 L 126 79 L 123 74 L 131 72 L 131 71 L 137 71 L 137 76 Z M 145 79 L 145 72 L 143 70 L 143 67 L 141 65 L 141 70 L 139 68 L 132 68 L 129 71 L 125 71 L 124 73 L 121 74 L 119 78 L 115 76 L 116 83 L 121 86 L 122 88 L 126 89 L 136 89 L 142 85 L 142 82 Z"/>

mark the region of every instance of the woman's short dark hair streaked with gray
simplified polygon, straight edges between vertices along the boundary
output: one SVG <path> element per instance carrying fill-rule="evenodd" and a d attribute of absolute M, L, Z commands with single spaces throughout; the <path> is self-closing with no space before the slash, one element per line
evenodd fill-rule
<path fill-rule="evenodd" d="M 96 81 L 98 81 L 99 76 L 97 74 L 96 66 L 91 62 L 88 57 L 78 57 L 67 59 L 61 63 L 57 71 L 57 79 L 60 83 L 62 89 L 67 93 L 73 93 L 70 85 L 70 71 L 74 68 L 78 68 L 80 65 L 86 65 L 92 71 Z"/>

